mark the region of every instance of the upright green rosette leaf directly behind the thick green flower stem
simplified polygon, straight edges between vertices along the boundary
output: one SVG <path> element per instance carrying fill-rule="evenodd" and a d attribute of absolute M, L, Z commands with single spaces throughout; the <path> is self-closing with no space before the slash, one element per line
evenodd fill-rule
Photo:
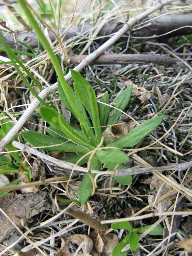
<path fill-rule="evenodd" d="M 81 104 L 80 100 L 78 99 L 76 93 L 73 91 L 73 89 L 67 84 L 68 90 L 71 93 L 73 97 L 73 103 L 68 101 L 67 96 L 65 95 L 65 92 L 60 84 L 60 81 L 58 79 L 58 90 L 59 94 L 63 103 L 63 106 L 67 108 L 73 116 L 77 118 L 79 123 L 81 124 L 82 131 L 84 135 L 89 138 L 91 137 L 94 140 L 94 132 L 93 129 L 91 129 L 92 125 L 89 121 L 89 118 L 86 114 L 86 111 L 84 109 L 84 106 Z M 96 146 L 96 144 L 95 144 Z"/>

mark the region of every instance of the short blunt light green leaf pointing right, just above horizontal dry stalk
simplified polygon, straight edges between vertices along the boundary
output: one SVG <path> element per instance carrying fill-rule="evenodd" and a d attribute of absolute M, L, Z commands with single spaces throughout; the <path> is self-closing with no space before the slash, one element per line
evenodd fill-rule
<path fill-rule="evenodd" d="M 123 164 L 129 157 L 120 149 L 98 150 L 97 157 L 103 164 Z"/>

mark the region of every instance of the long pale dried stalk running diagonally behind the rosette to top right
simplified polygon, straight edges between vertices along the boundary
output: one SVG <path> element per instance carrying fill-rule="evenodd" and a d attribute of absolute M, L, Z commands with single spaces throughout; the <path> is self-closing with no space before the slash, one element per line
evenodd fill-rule
<path fill-rule="evenodd" d="M 112 36 L 107 42 L 102 44 L 97 50 L 92 52 L 87 58 L 82 60 L 82 62 L 74 68 L 77 72 L 81 71 L 82 68 L 87 66 L 91 61 L 95 60 L 102 52 L 107 50 L 111 45 L 113 45 L 125 32 L 127 32 L 131 27 L 138 22 L 139 20 L 147 17 L 149 14 L 161 9 L 164 5 L 171 4 L 174 2 L 173 0 L 165 0 L 162 3 L 156 4 L 152 8 L 148 9 L 145 12 L 140 13 L 134 18 L 131 18 L 126 24 L 124 24 L 123 28 L 121 28 L 114 36 Z M 71 73 L 69 72 L 65 79 L 68 82 L 72 78 Z M 44 89 L 39 93 L 39 97 L 45 100 L 52 92 L 57 89 L 57 83 L 53 84 L 51 87 Z M 12 140 L 14 135 L 19 132 L 21 127 L 25 124 L 28 117 L 33 113 L 33 111 L 40 105 L 40 102 L 36 99 L 34 100 L 30 107 L 25 111 L 25 113 L 20 117 L 18 122 L 12 127 L 12 129 L 5 135 L 5 137 L 1 140 L 0 152 L 4 151 L 6 145 Z"/>

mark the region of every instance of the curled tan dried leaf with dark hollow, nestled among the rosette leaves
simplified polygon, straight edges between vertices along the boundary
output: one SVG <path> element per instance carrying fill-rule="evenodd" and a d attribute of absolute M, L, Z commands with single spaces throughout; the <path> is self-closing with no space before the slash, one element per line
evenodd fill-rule
<path fill-rule="evenodd" d="M 113 141 L 123 138 L 128 132 L 127 126 L 123 121 L 116 121 L 102 133 L 102 136 L 107 141 Z"/>

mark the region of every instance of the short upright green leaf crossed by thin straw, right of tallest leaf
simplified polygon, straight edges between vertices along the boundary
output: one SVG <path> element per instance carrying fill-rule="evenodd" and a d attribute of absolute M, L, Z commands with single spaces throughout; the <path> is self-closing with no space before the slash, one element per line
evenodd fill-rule
<path fill-rule="evenodd" d="M 108 91 L 105 92 L 105 94 L 102 96 L 100 102 L 104 102 L 106 104 L 109 104 Z M 101 124 L 101 126 L 105 126 L 105 125 L 107 125 L 107 119 L 108 119 L 109 108 L 110 107 L 106 106 L 102 103 L 99 103 L 98 108 L 99 108 L 100 124 Z M 105 129 L 106 129 L 106 127 L 101 127 L 102 132 L 104 132 Z"/>

